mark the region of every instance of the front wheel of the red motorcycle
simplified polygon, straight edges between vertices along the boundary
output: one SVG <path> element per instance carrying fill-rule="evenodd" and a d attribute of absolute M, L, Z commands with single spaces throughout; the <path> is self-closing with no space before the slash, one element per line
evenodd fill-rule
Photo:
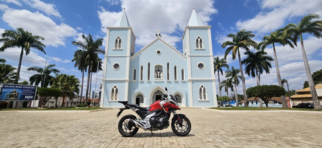
<path fill-rule="evenodd" d="M 182 124 L 183 126 L 180 127 L 180 124 L 179 124 L 179 121 L 178 119 L 174 119 L 172 120 L 171 122 L 171 128 L 172 128 L 172 131 L 175 133 L 175 135 L 177 136 L 187 136 L 191 130 L 191 123 L 190 123 L 190 120 L 184 116 L 182 118 Z"/>

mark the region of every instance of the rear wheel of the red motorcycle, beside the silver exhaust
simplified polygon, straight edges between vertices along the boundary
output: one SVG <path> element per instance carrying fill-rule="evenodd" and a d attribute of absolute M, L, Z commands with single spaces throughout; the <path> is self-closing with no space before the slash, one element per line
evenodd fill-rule
<path fill-rule="evenodd" d="M 118 132 L 124 137 L 131 137 L 137 133 L 138 127 L 132 127 L 126 123 L 126 119 L 135 120 L 136 117 L 133 115 L 125 115 L 118 122 Z"/>

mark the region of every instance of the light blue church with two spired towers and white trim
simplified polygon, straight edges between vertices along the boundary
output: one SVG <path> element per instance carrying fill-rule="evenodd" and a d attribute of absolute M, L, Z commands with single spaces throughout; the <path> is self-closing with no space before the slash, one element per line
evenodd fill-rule
<path fill-rule="evenodd" d="M 100 107 L 121 107 L 118 101 L 149 106 L 168 88 L 180 106 L 217 107 L 211 26 L 204 26 L 194 8 L 182 36 L 183 53 L 156 34 L 135 53 L 136 37 L 123 10 L 107 27 Z"/>

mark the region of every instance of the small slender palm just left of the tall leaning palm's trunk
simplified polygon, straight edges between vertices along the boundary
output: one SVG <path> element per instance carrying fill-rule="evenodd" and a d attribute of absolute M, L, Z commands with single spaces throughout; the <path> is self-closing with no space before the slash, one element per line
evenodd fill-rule
<path fill-rule="evenodd" d="M 235 69 L 233 66 L 230 70 L 226 70 L 226 78 L 229 78 L 232 83 L 234 83 L 234 93 L 235 93 L 235 101 L 236 101 L 236 106 L 238 106 L 238 97 L 237 97 L 237 86 L 240 84 L 239 79 L 242 78 L 242 76 L 240 76 L 241 70 L 239 69 Z"/>

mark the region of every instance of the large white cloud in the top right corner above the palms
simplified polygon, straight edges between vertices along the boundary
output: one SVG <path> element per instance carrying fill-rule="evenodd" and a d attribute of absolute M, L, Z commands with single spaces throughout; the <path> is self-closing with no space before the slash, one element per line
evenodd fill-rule
<path fill-rule="evenodd" d="M 238 29 L 257 31 L 266 33 L 284 27 L 285 21 L 294 18 L 294 14 L 299 16 L 310 13 L 321 14 L 322 1 L 317 0 L 287 0 L 287 1 L 261 1 L 262 12 L 252 19 L 239 20 L 236 25 Z M 296 22 L 293 22 L 296 23 Z"/>

